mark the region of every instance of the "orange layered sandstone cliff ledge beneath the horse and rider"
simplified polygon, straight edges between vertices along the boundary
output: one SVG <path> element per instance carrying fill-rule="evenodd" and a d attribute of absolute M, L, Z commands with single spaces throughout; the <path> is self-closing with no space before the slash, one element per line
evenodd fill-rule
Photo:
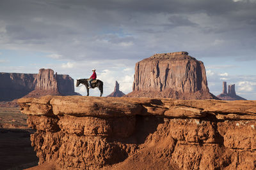
<path fill-rule="evenodd" d="M 30 169 L 256 169 L 256 101 L 19 99 L 36 129 Z"/>

